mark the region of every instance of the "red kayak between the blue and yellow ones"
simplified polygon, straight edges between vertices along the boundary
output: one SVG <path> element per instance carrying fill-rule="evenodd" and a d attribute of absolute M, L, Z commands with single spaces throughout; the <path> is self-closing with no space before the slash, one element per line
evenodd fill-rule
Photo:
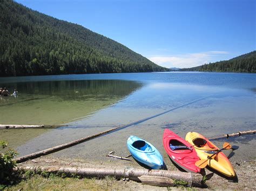
<path fill-rule="evenodd" d="M 169 129 L 164 130 L 163 144 L 165 151 L 179 167 L 187 172 L 199 173 L 200 168 L 194 163 L 199 160 L 193 146 Z"/>

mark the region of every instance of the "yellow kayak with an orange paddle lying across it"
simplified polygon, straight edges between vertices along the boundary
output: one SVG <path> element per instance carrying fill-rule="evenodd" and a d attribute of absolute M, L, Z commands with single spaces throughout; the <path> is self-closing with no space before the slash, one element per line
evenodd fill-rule
<path fill-rule="evenodd" d="M 214 154 L 215 151 L 219 150 L 210 140 L 197 132 L 188 132 L 185 139 L 193 145 L 201 160 L 207 159 Z M 212 159 L 209 159 L 207 165 L 228 177 L 235 176 L 234 169 L 223 152 L 219 152 L 217 155 L 214 155 Z"/>

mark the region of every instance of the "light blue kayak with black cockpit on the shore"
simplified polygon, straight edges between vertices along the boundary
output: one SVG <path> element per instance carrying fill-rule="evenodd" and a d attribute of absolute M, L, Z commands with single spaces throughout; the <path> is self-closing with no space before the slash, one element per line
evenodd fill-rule
<path fill-rule="evenodd" d="M 127 147 L 132 157 L 137 161 L 142 162 L 152 169 L 163 168 L 164 161 L 162 155 L 149 142 L 136 136 L 130 136 L 127 140 Z"/>

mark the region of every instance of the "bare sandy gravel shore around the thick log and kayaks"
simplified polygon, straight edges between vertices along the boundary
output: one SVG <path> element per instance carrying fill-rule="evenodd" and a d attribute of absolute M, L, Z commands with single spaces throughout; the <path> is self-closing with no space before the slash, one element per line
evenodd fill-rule
<path fill-rule="evenodd" d="M 127 162 L 123 160 L 119 160 L 116 158 L 106 158 L 104 161 L 90 161 L 90 160 L 82 160 L 82 159 L 60 159 L 54 158 L 51 156 L 41 157 L 38 159 L 29 160 L 26 162 L 22 162 L 18 164 L 18 166 L 65 166 L 65 167 L 97 167 L 97 168 L 140 168 L 143 169 L 142 166 L 136 165 L 136 161 L 132 159 L 132 162 Z M 236 162 L 231 162 L 235 172 L 237 173 L 238 182 L 230 181 L 230 179 L 221 176 L 220 174 L 213 173 L 210 169 L 206 168 L 205 173 L 210 177 L 210 180 L 206 181 L 206 188 L 196 188 L 197 190 L 208 190 L 208 189 L 230 189 L 230 190 L 255 190 L 255 172 L 256 172 L 256 159 L 254 160 L 237 160 Z M 179 171 L 174 165 L 167 164 L 168 170 Z M 84 178 L 86 179 L 86 178 Z M 90 179 L 89 179 L 90 181 Z M 113 180 L 117 183 L 117 187 L 111 189 L 150 189 L 150 190 L 170 190 L 177 189 L 177 187 L 158 187 L 158 186 L 150 186 L 150 185 L 142 185 L 140 182 L 135 181 L 123 181 L 121 180 Z M 19 184 L 18 184 L 19 185 Z M 18 185 L 15 188 L 19 188 Z M 110 188 L 107 187 L 107 188 Z M 107 189 L 106 188 L 106 189 Z M 178 187 L 179 188 L 179 187 Z M 193 188 L 193 187 L 192 187 Z M 86 188 L 85 188 L 86 189 Z"/>

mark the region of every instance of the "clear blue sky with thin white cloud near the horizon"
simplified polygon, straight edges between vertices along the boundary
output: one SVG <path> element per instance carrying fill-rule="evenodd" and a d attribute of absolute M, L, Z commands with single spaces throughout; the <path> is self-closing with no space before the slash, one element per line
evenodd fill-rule
<path fill-rule="evenodd" d="M 103 34 L 160 66 L 193 67 L 256 49 L 254 0 L 16 0 Z"/>

